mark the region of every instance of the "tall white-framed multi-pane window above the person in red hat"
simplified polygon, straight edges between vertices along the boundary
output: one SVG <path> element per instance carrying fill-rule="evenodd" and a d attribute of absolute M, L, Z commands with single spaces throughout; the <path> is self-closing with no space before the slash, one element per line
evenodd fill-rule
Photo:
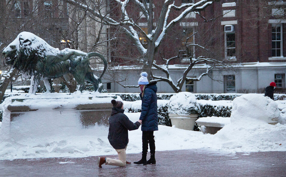
<path fill-rule="evenodd" d="M 282 25 L 272 24 L 272 57 L 283 57 Z"/>

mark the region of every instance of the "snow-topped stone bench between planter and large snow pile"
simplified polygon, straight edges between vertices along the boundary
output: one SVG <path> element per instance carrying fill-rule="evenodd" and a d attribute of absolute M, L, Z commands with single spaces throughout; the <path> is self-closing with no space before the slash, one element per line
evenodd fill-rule
<path fill-rule="evenodd" d="M 230 117 L 201 117 L 196 120 L 201 125 L 201 132 L 204 134 L 216 134 L 225 125 L 230 123 Z"/>

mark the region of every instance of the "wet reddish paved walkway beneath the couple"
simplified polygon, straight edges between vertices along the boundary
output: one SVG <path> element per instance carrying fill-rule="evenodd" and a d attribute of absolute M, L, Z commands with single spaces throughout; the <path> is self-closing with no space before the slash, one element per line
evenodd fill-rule
<path fill-rule="evenodd" d="M 131 165 L 103 165 L 101 169 L 95 156 L 3 160 L 0 161 L 0 176 L 286 176 L 286 152 L 158 151 L 156 165 L 133 164 L 140 159 L 141 154 L 127 154 Z"/>

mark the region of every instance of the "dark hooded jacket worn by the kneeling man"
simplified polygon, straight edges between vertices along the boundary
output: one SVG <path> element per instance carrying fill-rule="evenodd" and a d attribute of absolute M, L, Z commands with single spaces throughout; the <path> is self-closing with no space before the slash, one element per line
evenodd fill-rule
<path fill-rule="evenodd" d="M 131 122 L 123 112 L 123 109 L 113 107 L 109 118 L 108 140 L 114 149 L 125 149 L 128 130 L 137 130 L 140 126 L 140 122 Z"/>

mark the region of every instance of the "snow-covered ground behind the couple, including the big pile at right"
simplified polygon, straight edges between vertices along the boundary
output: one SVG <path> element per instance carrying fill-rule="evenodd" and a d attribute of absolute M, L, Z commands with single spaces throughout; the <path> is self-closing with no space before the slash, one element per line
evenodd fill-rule
<path fill-rule="evenodd" d="M 127 102 L 125 103 L 127 106 Z M 286 151 L 286 124 L 268 124 L 271 122 L 269 117 L 285 116 L 277 109 L 279 106 L 285 108 L 286 100 L 277 104 L 277 101 L 258 94 L 240 96 L 233 101 L 231 123 L 214 135 L 159 125 L 159 131 L 154 132 L 156 151 L 199 148 L 212 148 L 228 153 Z M 140 116 L 140 112 L 125 114 L 132 122 L 136 122 Z M 10 131 L 13 136 L 7 139 L 2 130 L 4 117 L 5 115 L 0 128 L 0 160 L 117 154 L 108 142 L 108 127 L 96 125 L 66 132 L 57 128 L 54 121 L 33 117 L 11 122 Z M 42 122 L 45 126 L 35 125 L 33 122 Z M 127 153 L 142 151 L 141 136 L 141 127 L 129 131 Z"/>

